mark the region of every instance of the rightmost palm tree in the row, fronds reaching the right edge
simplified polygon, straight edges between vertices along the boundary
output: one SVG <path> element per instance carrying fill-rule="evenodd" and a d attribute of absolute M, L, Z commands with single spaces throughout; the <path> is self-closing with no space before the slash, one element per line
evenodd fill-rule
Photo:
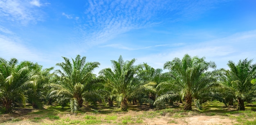
<path fill-rule="evenodd" d="M 238 110 L 245 110 L 244 101 L 253 95 L 255 85 L 251 81 L 256 77 L 256 64 L 252 64 L 252 59 L 239 60 L 238 64 L 233 61 L 228 62 L 230 70 L 226 71 L 227 81 L 230 90 L 233 90 L 238 101 Z"/>

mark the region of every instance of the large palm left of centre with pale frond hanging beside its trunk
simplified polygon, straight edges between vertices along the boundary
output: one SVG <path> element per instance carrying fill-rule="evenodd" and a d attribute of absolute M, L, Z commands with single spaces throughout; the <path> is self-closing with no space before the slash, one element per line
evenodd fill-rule
<path fill-rule="evenodd" d="M 86 62 L 86 57 L 80 55 L 76 59 L 63 57 L 65 62 L 58 63 L 61 69 L 56 70 L 58 81 L 50 83 L 49 86 L 54 88 L 51 94 L 56 94 L 63 100 L 70 101 L 70 109 L 72 112 L 82 107 L 85 97 L 99 97 L 98 93 L 93 92 L 94 83 L 97 77 L 92 73 L 94 68 L 99 67 L 99 62 Z"/>

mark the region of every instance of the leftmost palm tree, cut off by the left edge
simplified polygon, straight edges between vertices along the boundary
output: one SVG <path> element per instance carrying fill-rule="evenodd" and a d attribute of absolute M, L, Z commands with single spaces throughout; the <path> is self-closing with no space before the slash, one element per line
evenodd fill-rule
<path fill-rule="evenodd" d="M 0 102 L 2 112 L 11 112 L 13 103 L 22 102 L 25 106 L 26 97 L 24 84 L 29 80 L 29 73 L 34 69 L 35 64 L 29 61 L 22 61 L 13 58 L 7 61 L 0 58 Z"/>

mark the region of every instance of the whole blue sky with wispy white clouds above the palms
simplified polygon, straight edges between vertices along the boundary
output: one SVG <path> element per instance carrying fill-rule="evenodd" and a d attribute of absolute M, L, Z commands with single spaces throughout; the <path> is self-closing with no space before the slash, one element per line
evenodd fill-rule
<path fill-rule="evenodd" d="M 256 0 L 0 0 L 0 57 L 49 68 L 79 54 L 97 74 L 120 55 L 163 68 L 188 53 L 227 68 L 256 59 L 255 22 Z"/>

